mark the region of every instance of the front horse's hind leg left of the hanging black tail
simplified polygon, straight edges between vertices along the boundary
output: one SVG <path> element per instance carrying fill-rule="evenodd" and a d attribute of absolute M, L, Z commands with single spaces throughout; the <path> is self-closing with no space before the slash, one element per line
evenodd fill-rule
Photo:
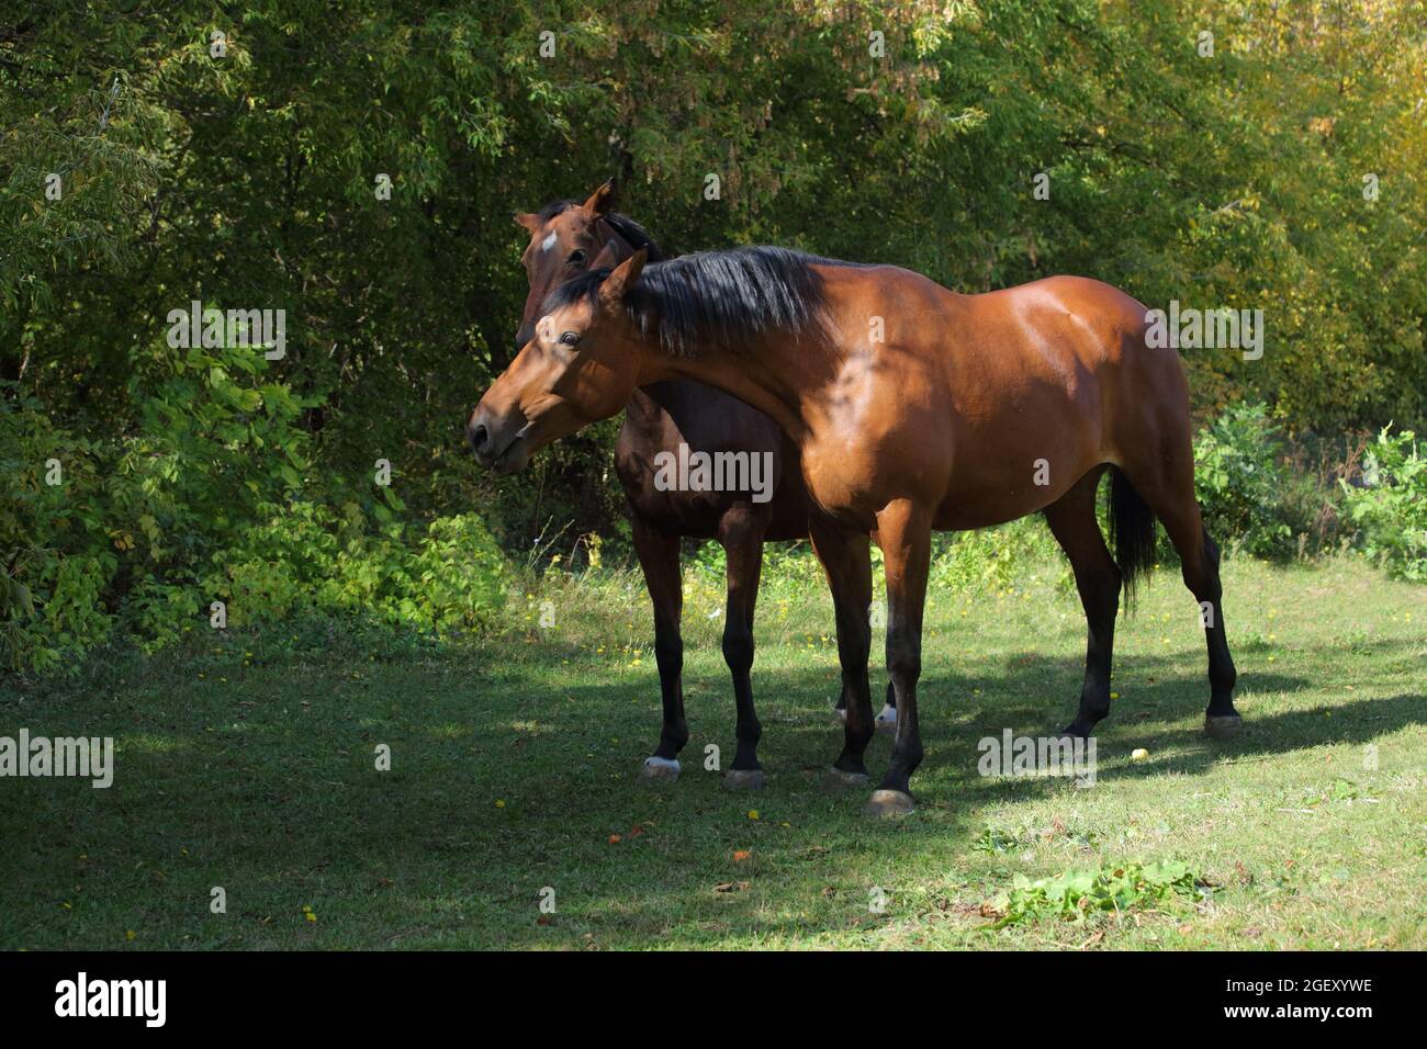
<path fill-rule="evenodd" d="M 1087 627 L 1080 711 L 1065 729 L 1073 736 L 1089 736 L 1095 724 L 1110 712 L 1110 661 L 1114 614 L 1120 605 L 1120 569 L 1104 545 L 1100 522 L 1095 517 L 1095 494 L 1103 472 L 1092 470 L 1045 510 L 1050 532 L 1070 558 Z"/>

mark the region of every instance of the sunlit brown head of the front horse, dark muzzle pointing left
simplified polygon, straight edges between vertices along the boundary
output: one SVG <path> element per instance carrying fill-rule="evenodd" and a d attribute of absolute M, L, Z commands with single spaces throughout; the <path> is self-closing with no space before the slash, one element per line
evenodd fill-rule
<path fill-rule="evenodd" d="M 481 462 L 514 474 L 551 441 L 624 410 L 639 377 L 624 298 L 645 258 L 641 248 L 611 270 L 606 244 L 595 268 L 545 297 L 531 340 L 471 412 L 467 438 Z"/>

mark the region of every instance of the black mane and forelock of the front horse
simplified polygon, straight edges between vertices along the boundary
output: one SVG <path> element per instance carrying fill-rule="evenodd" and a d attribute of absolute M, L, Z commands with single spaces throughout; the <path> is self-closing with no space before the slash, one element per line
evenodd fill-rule
<path fill-rule="evenodd" d="M 846 265 L 775 247 L 698 251 L 651 263 L 625 294 L 625 311 L 642 335 L 658 337 L 674 357 L 691 355 L 704 341 L 731 347 L 809 327 L 823 334 L 826 301 L 813 264 Z M 561 284 L 547 295 L 542 311 L 594 300 L 609 273 L 591 270 Z"/>

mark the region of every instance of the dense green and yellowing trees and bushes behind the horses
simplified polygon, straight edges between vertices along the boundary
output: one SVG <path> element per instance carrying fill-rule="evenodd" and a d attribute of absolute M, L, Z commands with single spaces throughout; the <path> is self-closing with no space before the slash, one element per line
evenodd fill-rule
<path fill-rule="evenodd" d="M 1427 124 L 1403 100 L 1427 93 L 1421 10 L 1233 0 L 1213 59 L 1183 0 L 357 0 L 340 31 L 321 0 L 241 19 L 178 0 L 9 20 L 0 658 L 66 665 L 120 621 L 171 644 L 210 584 L 240 621 L 361 607 L 469 625 L 494 599 L 488 555 L 462 564 L 428 529 L 475 527 L 457 524 L 471 507 L 508 549 L 549 525 L 626 554 L 616 422 L 499 480 L 461 442 L 525 293 L 511 210 L 611 174 L 674 250 L 781 243 L 962 291 L 1079 273 L 1150 307 L 1263 307 L 1261 360 L 1186 354 L 1203 417 L 1270 400 L 1291 438 L 1417 427 Z M 285 310 L 287 355 L 168 348 L 167 313 L 195 298 Z M 1257 425 L 1230 408 L 1202 441 L 1202 497 L 1222 539 L 1281 555 L 1323 501 Z M 378 458 L 392 488 L 370 482 Z M 1388 507 L 1393 484 L 1347 498 L 1374 557 L 1411 575 L 1420 518 Z M 1005 589 L 1042 548 L 1040 522 L 962 537 L 933 584 Z M 699 558 L 712 575 L 716 552 Z M 766 575 L 821 572 L 793 548 Z"/>

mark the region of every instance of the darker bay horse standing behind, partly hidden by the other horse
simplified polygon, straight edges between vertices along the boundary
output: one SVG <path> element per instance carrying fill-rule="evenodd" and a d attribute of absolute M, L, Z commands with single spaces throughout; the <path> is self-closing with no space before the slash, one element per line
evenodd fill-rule
<path fill-rule="evenodd" d="M 521 264 L 529 293 L 515 334 L 519 351 L 531 341 L 539 307 L 561 283 L 598 264 L 615 265 L 636 250 L 659 261 L 664 253 L 636 221 L 614 210 L 611 178 L 581 204 L 558 200 L 535 213 L 517 213 L 517 225 L 529 233 Z M 654 464 L 661 452 L 675 457 L 679 445 L 711 455 L 765 455 L 772 465 L 772 497 L 755 501 L 749 491 L 678 491 L 655 485 Z M 771 418 L 721 390 L 688 380 L 635 388 L 615 444 L 615 472 L 625 491 L 635 555 L 654 604 L 654 652 L 659 669 L 664 726 L 654 754 L 645 758 L 644 779 L 678 778 L 678 755 L 689 738 L 684 716 L 684 607 L 679 539 L 718 539 L 728 564 L 723 617 L 723 661 L 733 678 L 738 712 L 733 764 L 723 775 L 731 789 L 758 789 L 763 772 L 758 761 L 762 726 L 753 708 L 753 611 L 763 564 L 763 542 L 808 538 L 808 517 L 818 512 L 802 482 L 798 448 Z M 846 696 L 839 698 L 845 709 Z M 892 729 L 896 705 L 892 685 L 876 722 Z"/>

